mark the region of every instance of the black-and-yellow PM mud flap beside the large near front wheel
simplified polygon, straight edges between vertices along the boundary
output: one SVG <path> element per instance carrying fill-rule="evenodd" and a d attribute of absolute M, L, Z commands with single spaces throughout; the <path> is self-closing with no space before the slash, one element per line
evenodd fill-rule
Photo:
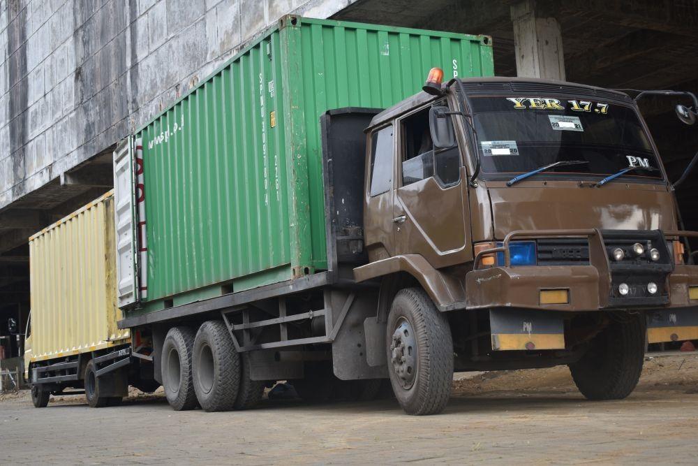
<path fill-rule="evenodd" d="M 492 349 L 565 349 L 562 316 L 549 311 L 491 310 Z"/>

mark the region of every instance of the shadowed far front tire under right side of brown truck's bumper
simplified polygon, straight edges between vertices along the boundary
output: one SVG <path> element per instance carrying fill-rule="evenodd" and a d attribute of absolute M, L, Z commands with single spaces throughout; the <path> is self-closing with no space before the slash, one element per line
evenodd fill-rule
<path fill-rule="evenodd" d="M 621 400 L 640 379 L 645 356 L 645 320 L 641 314 L 611 321 L 591 347 L 570 364 L 574 384 L 588 400 Z"/>

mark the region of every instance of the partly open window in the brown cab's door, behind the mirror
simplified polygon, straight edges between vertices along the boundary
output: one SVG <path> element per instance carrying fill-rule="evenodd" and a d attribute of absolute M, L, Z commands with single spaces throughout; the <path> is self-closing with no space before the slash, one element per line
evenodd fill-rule
<path fill-rule="evenodd" d="M 461 157 L 458 147 L 434 150 L 429 130 L 429 108 L 403 119 L 402 129 L 403 186 L 435 175 L 444 186 L 459 181 Z"/>

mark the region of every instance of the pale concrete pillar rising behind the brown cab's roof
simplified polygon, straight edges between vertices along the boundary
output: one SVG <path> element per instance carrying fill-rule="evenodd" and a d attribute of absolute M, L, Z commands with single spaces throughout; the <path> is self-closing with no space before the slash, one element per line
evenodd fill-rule
<path fill-rule="evenodd" d="M 565 55 L 560 23 L 554 17 L 537 17 L 535 0 L 512 6 L 517 75 L 565 80 Z"/>

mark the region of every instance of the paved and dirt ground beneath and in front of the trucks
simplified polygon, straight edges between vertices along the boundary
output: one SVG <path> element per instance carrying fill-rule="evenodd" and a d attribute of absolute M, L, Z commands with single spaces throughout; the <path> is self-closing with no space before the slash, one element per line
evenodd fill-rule
<path fill-rule="evenodd" d="M 698 354 L 648 356 L 626 400 L 588 402 L 566 367 L 456 374 L 444 414 L 393 400 L 264 400 L 248 412 L 173 412 L 134 391 L 35 409 L 0 396 L 0 464 L 698 463 Z"/>

